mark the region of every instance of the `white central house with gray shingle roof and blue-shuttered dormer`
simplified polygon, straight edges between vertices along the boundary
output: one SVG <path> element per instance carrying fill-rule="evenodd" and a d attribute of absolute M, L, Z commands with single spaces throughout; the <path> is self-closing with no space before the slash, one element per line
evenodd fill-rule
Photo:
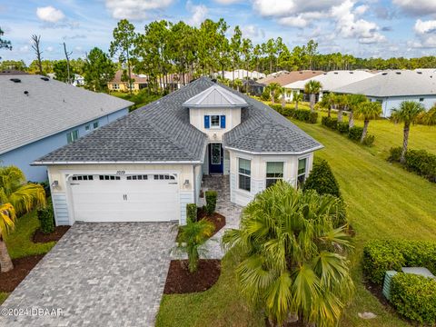
<path fill-rule="evenodd" d="M 245 205 L 277 180 L 302 183 L 322 145 L 272 108 L 200 78 L 37 159 L 57 224 L 186 223 L 203 174 L 230 175 Z"/>

